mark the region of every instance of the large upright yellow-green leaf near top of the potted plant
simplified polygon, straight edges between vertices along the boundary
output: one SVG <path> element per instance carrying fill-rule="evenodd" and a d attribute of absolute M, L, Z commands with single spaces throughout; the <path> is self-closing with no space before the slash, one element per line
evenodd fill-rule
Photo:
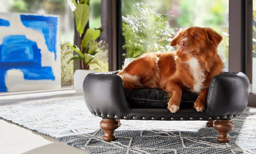
<path fill-rule="evenodd" d="M 74 15 L 76 30 L 79 34 L 82 34 L 89 20 L 89 5 L 77 4 Z"/>

